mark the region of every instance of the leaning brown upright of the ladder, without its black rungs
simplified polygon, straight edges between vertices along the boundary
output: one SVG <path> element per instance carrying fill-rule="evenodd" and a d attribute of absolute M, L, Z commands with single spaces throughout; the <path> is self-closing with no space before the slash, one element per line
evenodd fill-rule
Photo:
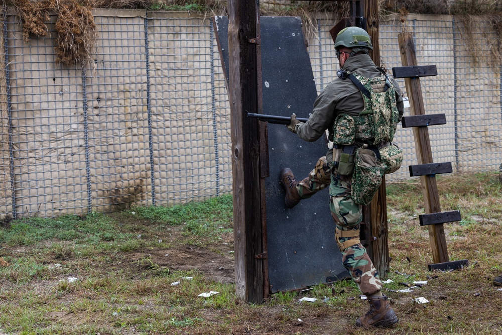
<path fill-rule="evenodd" d="M 413 36 L 411 33 L 401 33 L 398 35 L 399 48 L 401 51 L 401 62 L 403 66 L 417 65 L 417 56 Z M 422 86 L 420 78 L 405 78 L 406 90 L 410 98 L 410 114 L 425 115 L 424 100 L 422 96 Z M 415 147 L 417 149 L 417 160 L 419 164 L 433 163 L 429 131 L 427 127 L 414 127 Z M 439 195 L 434 176 L 421 176 L 422 194 L 425 202 L 426 213 L 439 213 Z M 444 263 L 449 261 L 446 246 L 446 237 L 442 224 L 430 225 L 429 240 L 432 248 L 434 263 Z"/>

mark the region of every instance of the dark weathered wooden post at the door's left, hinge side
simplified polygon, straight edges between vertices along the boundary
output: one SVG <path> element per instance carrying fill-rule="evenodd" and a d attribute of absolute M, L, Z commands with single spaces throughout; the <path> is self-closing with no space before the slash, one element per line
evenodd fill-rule
<path fill-rule="evenodd" d="M 247 117 L 259 113 L 259 13 L 258 0 L 228 1 L 235 285 L 237 296 L 253 303 L 264 298 L 259 125 Z"/>

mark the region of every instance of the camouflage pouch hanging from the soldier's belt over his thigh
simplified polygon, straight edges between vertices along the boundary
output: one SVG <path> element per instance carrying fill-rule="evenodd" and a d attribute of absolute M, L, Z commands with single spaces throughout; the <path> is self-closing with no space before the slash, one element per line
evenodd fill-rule
<path fill-rule="evenodd" d="M 370 203 L 382 183 L 382 176 L 386 170 L 387 166 L 376 159 L 372 150 L 357 149 L 352 175 L 352 200 L 361 205 Z"/>

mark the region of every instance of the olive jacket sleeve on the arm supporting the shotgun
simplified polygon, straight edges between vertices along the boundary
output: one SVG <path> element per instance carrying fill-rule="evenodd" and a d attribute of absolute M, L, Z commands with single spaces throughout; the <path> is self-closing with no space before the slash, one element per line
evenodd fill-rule
<path fill-rule="evenodd" d="M 296 126 L 296 133 L 305 141 L 314 142 L 319 139 L 333 122 L 336 102 L 328 87 L 317 96 L 307 122 Z"/>

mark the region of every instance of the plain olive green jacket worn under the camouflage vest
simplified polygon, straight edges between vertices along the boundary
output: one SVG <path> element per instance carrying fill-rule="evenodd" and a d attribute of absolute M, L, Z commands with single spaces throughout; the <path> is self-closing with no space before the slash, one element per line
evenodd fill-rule
<path fill-rule="evenodd" d="M 373 78 L 382 75 L 376 69 L 375 64 L 369 55 L 355 55 L 349 57 L 343 66 L 347 72 L 355 72 L 366 78 Z M 394 78 L 389 78 L 396 90 L 396 105 L 399 110 L 399 120 L 403 116 L 403 97 L 401 89 Z M 298 124 L 295 129 L 300 138 L 313 142 L 325 134 L 326 129 L 331 129 L 335 118 L 340 114 L 358 116 L 364 109 L 364 99 L 361 91 L 350 79 L 336 77 L 317 96 L 314 102 L 314 109 L 306 123 Z M 326 154 L 328 162 L 332 161 L 332 150 Z"/>

